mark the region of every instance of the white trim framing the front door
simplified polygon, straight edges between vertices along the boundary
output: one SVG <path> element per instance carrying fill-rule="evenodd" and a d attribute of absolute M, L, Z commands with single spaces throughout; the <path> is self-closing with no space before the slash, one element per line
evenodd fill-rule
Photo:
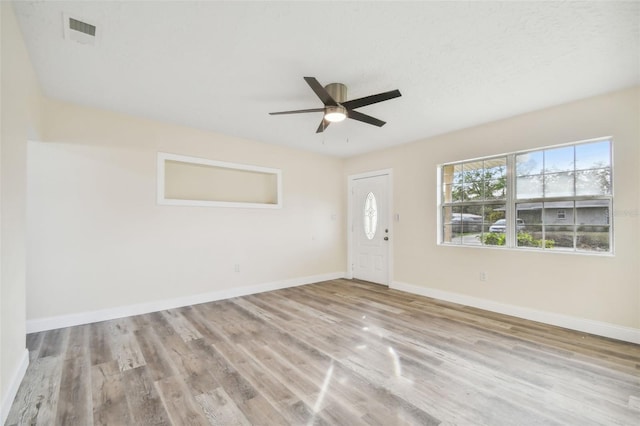
<path fill-rule="evenodd" d="M 354 227 L 354 182 L 360 179 L 366 179 L 376 176 L 387 176 L 387 224 L 389 226 L 389 245 L 387 251 L 387 287 L 393 282 L 393 169 L 372 170 L 369 172 L 357 173 L 347 176 L 347 268 L 346 278 L 353 278 L 353 227 Z"/>

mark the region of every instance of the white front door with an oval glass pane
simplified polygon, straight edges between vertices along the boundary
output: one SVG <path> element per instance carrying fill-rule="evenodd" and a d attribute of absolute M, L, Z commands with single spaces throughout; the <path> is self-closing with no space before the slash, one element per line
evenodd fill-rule
<path fill-rule="evenodd" d="M 353 278 L 389 285 L 389 175 L 351 182 Z"/>

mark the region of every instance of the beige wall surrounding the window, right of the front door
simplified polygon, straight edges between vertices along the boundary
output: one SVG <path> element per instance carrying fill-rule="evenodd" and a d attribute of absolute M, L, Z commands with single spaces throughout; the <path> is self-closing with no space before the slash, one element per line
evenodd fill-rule
<path fill-rule="evenodd" d="M 393 168 L 394 281 L 640 328 L 639 103 L 636 87 L 349 159 L 345 175 Z M 615 256 L 436 244 L 439 164 L 609 135 Z"/>

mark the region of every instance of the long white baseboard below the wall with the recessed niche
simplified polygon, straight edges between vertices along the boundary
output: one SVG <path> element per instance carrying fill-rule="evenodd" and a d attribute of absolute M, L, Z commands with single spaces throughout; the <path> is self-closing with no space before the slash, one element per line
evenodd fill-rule
<path fill-rule="evenodd" d="M 56 328 L 71 327 L 74 325 L 90 324 L 92 322 L 106 321 L 132 315 L 147 314 L 149 312 L 157 312 L 166 309 L 180 308 L 183 306 L 197 305 L 200 303 L 230 299 L 232 297 L 238 296 L 247 296 L 250 294 L 262 293 L 265 291 L 297 287 L 305 284 L 313 284 L 321 281 L 343 278 L 344 275 L 344 272 L 333 272 L 329 274 L 312 275 L 308 277 L 293 278 L 282 281 L 273 281 L 246 287 L 230 288 L 227 290 L 214 291 L 210 293 L 194 294 L 192 296 L 179 297 L 176 299 L 157 300 L 136 305 L 121 306 L 111 309 L 101 309 L 99 311 L 81 312 L 77 314 L 60 315 L 47 318 L 36 318 L 27 320 L 27 333 L 36 333 L 39 331 L 53 330 Z"/>

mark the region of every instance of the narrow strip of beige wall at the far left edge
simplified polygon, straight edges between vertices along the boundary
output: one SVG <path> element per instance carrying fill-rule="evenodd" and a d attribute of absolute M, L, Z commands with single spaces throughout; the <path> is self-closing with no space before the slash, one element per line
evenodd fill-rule
<path fill-rule="evenodd" d="M 2 15 L 0 99 L 0 400 L 10 404 L 25 358 L 27 137 L 38 129 L 40 92 L 11 5 Z M 19 379 L 19 377 L 18 377 Z M 6 412 L 2 412 L 2 420 Z"/>

